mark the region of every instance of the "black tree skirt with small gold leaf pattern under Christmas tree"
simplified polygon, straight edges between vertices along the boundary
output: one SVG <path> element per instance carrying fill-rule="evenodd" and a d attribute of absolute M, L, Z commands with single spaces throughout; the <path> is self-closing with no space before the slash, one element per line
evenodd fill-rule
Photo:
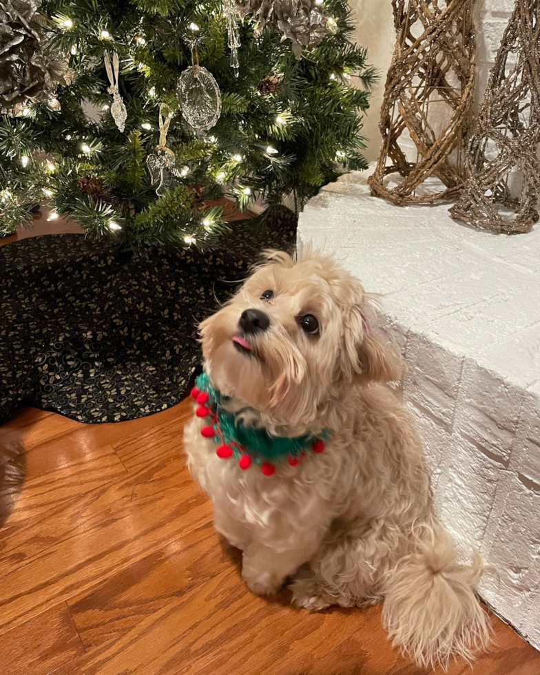
<path fill-rule="evenodd" d="M 295 242 L 291 211 L 262 238 L 249 220 L 233 227 L 206 255 L 150 249 L 129 259 L 75 234 L 0 247 L 0 423 L 21 404 L 119 422 L 178 403 L 200 362 L 198 322 L 261 249 Z"/>

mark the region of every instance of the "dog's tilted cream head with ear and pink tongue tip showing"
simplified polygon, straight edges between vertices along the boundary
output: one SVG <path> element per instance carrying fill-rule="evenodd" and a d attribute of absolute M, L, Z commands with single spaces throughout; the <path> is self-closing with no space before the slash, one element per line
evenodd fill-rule
<path fill-rule="evenodd" d="M 283 424 L 309 424 L 336 387 L 388 382 L 397 361 L 373 334 L 360 282 L 331 258 L 267 262 L 200 324 L 214 384 Z"/>

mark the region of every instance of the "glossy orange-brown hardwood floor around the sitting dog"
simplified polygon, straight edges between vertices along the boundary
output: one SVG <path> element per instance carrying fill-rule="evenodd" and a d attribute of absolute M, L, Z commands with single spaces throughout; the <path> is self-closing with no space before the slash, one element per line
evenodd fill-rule
<path fill-rule="evenodd" d="M 427 675 L 380 607 L 309 614 L 253 596 L 182 450 L 185 401 L 119 424 L 21 411 L 0 427 L 0 671 L 6 675 Z M 494 618 L 475 675 L 534 675 Z M 455 663 L 451 675 L 470 669 Z"/>

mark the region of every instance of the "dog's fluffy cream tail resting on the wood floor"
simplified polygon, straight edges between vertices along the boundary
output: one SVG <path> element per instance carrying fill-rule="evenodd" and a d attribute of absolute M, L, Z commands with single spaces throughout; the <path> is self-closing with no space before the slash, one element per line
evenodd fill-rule
<path fill-rule="evenodd" d="M 417 550 L 399 560 L 386 583 L 383 621 L 394 645 L 420 666 L 470 663 L 490 642 L 490 621 L 475 594 L 484 572 L 479 556 L 457 563 L 455 543 L 438 526 L 425 526 Z"/>

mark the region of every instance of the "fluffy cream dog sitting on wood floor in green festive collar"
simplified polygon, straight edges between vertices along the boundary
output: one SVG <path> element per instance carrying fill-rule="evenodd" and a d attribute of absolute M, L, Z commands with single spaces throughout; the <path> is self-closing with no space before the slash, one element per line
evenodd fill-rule
<path fill-rule="evenodd" d="M 437 521 L 422 444 L 386 385 L 401 360 L 376 324 L 375 296 L 333 258 L 267 251 L 200 324 L 188 466 L 251 591 L 289 579 L 308 610 L 383 601 L 394 644 L 446 668 L 490 641 L 484 568 Z"/>

